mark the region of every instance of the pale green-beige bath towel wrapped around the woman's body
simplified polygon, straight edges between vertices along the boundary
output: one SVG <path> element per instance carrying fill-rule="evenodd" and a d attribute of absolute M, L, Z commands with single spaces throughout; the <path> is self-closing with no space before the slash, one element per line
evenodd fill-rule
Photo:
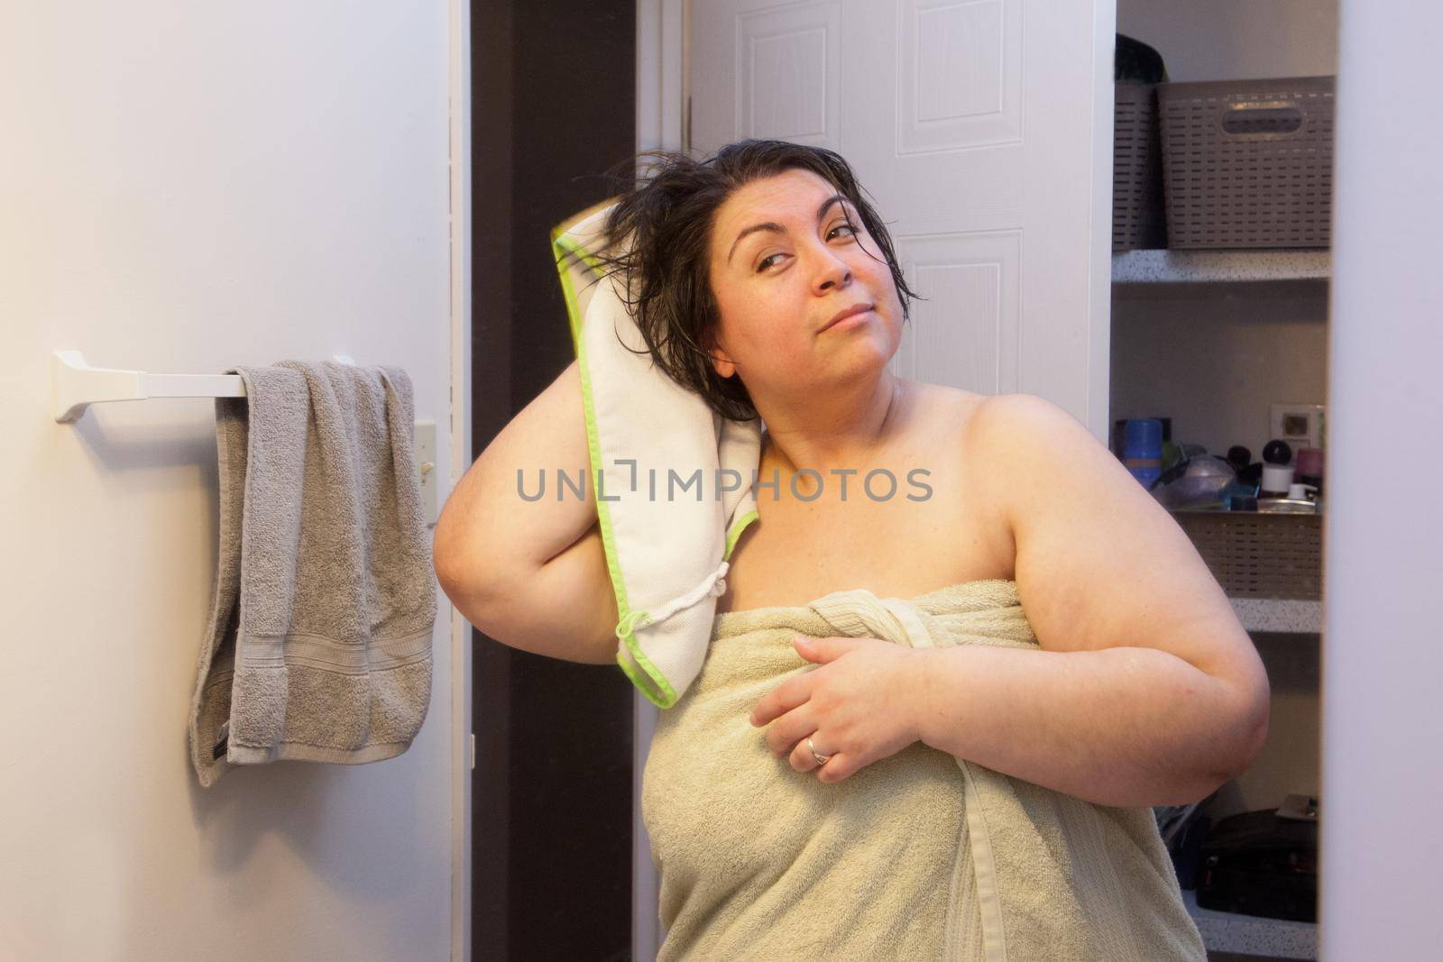
<path fill-rule="evenodd" d="M 815 668 L 798 633 L 1039 648 L 1003 580 L 719 616 L 644 772 L 668 930 L 658 962 L 1206 959 L 1149 808 L 1085 802 L 921 741 L 835 783 L 773 756 L 747 715 Z"/>

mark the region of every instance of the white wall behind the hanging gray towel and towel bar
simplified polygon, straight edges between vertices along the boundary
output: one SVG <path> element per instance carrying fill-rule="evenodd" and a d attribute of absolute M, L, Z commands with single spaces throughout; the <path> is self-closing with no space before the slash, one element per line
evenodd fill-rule
<path fill-rule="evenodd" d="M 216 555 L 214 402 L 56 424 L 48 366 L 55 348 L 177 374 L 401 365 L 449 479 L 447 16 L 0 13 L 0 958 L 450 955 L 447 606 L 407 753 L 199 789 L 185 733 Z"/>

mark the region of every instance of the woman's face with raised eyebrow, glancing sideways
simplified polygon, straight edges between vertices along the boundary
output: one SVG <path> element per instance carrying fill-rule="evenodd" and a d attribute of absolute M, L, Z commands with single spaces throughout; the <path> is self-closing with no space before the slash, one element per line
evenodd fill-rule
<path fill-rule="evenodd" d="M 882 248 L 851 202 L 811 170 L 734 190 L 713 221 L 710 271 L 713 365 L 723 378 L 740 372 L 753 398 L 874 376 L 902 343 L 902 301 Z"/>

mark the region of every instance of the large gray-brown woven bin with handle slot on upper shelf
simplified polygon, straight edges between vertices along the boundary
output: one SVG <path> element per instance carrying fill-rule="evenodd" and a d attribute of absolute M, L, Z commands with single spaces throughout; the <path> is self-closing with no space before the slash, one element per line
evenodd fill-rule
<path fill-rule="evenodd" d="M 1328 247 L 1333 78 L 1159 84 L 1167 247 Z"/>

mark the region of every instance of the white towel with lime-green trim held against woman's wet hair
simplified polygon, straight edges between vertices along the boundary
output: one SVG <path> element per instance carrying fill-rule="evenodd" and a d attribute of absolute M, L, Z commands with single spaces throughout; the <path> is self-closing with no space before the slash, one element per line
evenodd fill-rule
<path fill-rule="evenodd" d="M 756 519 L 760 420 L 724 418 L 652 363 L 590 257 L 615 199 L 551 231 L 582 372 L 592 490 L 616 593 L 616 663 L 670 708 L 706 661 L 732 548 Z M 571 466 L 567 466 L 571 470 Z"/>

